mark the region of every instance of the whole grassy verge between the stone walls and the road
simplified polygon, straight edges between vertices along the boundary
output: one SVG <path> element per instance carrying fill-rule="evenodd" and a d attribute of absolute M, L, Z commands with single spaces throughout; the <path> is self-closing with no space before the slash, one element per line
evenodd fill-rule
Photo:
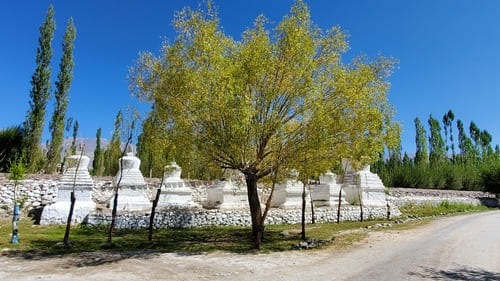
<path fill-rule="evenodd" d="M 444 202 L 440 205 L 407 205 L 401 207 L 403 216 L 429 217 L 439 214 L 487 210 L 486 207 Z M 364 222 L 321 223 L 308 225 L 309 238 L 328 240 L 328 247 L 341 249 L 366 236 L 366 227 L 387 222 L 372 220 Z M 411 227 L 418 223 L 405 223 Z M 403 225 L 398 225 L 402 227 Z M 364 229 L 363 231 L 356 231 Z M 355 230 L 355 231 L 349 231 Z M 38 253 L 43 255 L 80 253 L 93 251 L 159 251 L 159 252 L 233 252 L 253 253 L 251 229 L 249 227 L 219 226 L 187 229 L 155 230 L 153 241 L 147 241 L 147 230 L 118 229 L 113 244 L 106 243 L 107 227 L 74 226 L 71 230 L 71 248 L 58 245 L 64 237 L 64 226 L 34 225 L 29 219 L 19 222 L 20 242 L 10 244 L 11 222 L 0 221 L 0 249 L 3 253 Z M 291 250 L 300 239 L 300 225 L 270 225 L 266 227 L 261 252 Z"/>

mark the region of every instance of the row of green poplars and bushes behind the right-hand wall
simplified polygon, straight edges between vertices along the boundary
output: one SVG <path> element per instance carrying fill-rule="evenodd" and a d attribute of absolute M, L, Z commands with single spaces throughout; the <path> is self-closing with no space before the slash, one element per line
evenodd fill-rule
<path fill-rule="evenodd" d="M 429 116 L 428 131 L 415 118 L 415 156 L 391 150 L 373 166 L 386 186 L 485 190 L 499 193 L 500 148 L 492 136 L 474 121 L 468 128 L 453 111 L 442 120 Z M 456 128 L 456 131 L 455 131 Z M 456 138 L 455 132 L 458 132 Z M 443 134 L 444 133 L 444 134 Z"/>

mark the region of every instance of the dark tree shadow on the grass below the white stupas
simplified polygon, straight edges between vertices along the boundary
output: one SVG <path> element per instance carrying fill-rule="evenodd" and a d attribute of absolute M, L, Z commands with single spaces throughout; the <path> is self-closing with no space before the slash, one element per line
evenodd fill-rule
<path fill-rule="evenodd" d="M 43 233 L 42 233 L 43 234 Z M 201 227 L 155 230 L 153 241 L 147 241 L 147 230 L 117 229 L 113 243 L 108 244 L 106 227 L 75 227 L 71 231 L 71 247 L 62 245 L 57 235 L 41 235 L 29 241 L 30 250 L 14 251 L 4 257 L 21 260 L 64 259 L 62 268 L 100 266 L 126 259 L 152 259 L 162 253 L 178 256 L 205 255 L 222 251 L 254 254 L 290 250 L 299 235 L 284 236 L 279 230 L 267 230 L 262 250 L 252 248 L 251 230 L 244 227 Z"/>

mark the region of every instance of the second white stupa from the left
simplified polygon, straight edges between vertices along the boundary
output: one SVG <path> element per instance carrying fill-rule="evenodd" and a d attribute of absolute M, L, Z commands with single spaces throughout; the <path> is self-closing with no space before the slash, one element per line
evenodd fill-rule
<path fill-rule="evenodd" d="M 123 169 L 122 169 L 123 163 Z M 118 160 L 118 173 L 113 180 L 113 187 L 118 188 L 118 211 L 141 211 L 151 209 L 147 185 L 141 171 L 141 160 L 132 152 Z M 113 208 L 114 193 L 109 200 L 109 208 Z"/>

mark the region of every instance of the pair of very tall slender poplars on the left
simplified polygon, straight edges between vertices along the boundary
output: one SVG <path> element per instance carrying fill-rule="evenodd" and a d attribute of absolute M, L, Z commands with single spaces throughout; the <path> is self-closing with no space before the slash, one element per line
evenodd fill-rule
<path fill-rule="evenodd" d="M 76 29 L 73 19 L 70 18 L 64 33 L 63 54 L 59 64 L 58 80 L 55 83 L 54 112 L 49 123 L 51 140 L 47 143 L 45 154 L 40 142 L 45 124 L 46 105 L 52 92 L 50 77 L 52 74 L 52 39 L 54 38 L 55 28 L 54 8 L 51 5 L 47 11 L 45 21 L 40 27 L 39 47 L 36 52 L 36 69 L 31 78 L 30 108 L 23 124 L 25 131 L 23 158 L 30 172 L 45 170 L 50 173 L 60 168 L 64 131 L 65 128 L 69 131 L 71 123 L 73 123 L 71 118 L 66 120 L 69 89 L 73 79 L 73 43 L 76 38 Z M 76 137 L 78 132 L 78 122 L 76 121 L 73 132 Z M 74 149 L 75 144 L 73 143 Z"/>

